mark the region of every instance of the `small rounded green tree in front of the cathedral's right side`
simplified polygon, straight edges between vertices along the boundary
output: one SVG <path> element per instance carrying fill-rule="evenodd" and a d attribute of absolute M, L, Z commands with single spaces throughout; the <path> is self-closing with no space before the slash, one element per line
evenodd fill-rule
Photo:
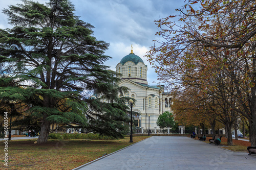
<path fill-rule="evenodd" d="M 168 127 L 175 128 L 175 125 L 176 123 L 174 121 L 173 114 L 168 111 L 159 115 L 157 119 L 157 126 L 159 126 L 161 129 L 168 128 Z"/>

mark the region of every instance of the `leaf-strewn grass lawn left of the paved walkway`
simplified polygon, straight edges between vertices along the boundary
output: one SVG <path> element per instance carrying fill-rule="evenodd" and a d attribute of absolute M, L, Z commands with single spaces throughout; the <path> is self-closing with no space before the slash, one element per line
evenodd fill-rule
<path fill-rule="evenodd" d="M 133 136 L 133 143 L 148 136 Z M 130 143 L 130 136 L 118 140 L 48 140 L 45 145 L 36 139 L 8 141 L 8 168 L 5 169 L 73 169 L 95 160 L 105 153 L 120 150 Z M 3 158 L 4 143 L 0 143 Z M 3 155 L 3 156 L 2 156 Z M 1 159 L 0 169 L 4 165 Z"/>

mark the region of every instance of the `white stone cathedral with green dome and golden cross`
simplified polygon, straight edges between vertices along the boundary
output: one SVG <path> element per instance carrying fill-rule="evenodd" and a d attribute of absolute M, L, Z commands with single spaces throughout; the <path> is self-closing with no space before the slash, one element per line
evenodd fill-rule
<path fill-rule="evenodd" d="M 135 126 L 148 129 L 160 129 L 156 122 L 158 116 L 165 111 L 170 112 L 172 99 L 164 92 L 164 86 L 151 86 L 147 83 L 147 65 L 133 53 L 124 56 L 116 65 L 116 71 L 122 74 L 119 86 L 125 86 L 130 90 L 125 92 L 126 97 L 136 100 L 133 111 L 140 115 L 135 118 Z M 148 122 L 150 116 L 150 122 Z"/>

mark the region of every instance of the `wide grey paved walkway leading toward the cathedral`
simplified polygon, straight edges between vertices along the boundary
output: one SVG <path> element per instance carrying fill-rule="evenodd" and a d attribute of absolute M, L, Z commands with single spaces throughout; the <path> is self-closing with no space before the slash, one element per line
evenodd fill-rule
<path fill-rule="evenodd" d="M 256 155 L 188 137 L 152 136 L 75 169 L 255 169 Z"/>

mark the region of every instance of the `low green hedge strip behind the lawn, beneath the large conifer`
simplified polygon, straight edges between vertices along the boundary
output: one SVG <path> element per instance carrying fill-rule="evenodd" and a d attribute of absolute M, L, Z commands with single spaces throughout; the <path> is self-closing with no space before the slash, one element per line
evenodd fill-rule
<path fill-rule="evenodd" d="M 49 139 L 90 139 L 90 140 L 114 140 L 114 137 L 99 135 L 95 133 L 50 133 Z"/>

